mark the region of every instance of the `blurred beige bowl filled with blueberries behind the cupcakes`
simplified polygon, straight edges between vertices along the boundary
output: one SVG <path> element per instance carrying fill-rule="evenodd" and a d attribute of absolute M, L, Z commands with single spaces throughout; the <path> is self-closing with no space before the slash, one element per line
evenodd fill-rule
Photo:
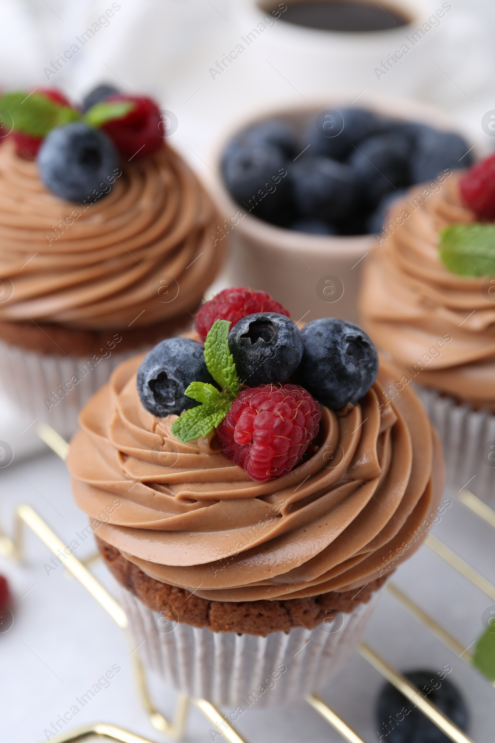
<path fill-rule="evenodd" d="M 473 143 L 448 114 L 355 95 L 243 121 L 212 157 L 225 217 L 212 240 L 230 241 L 232 281 L 281 297 L 306 321 L 356 322 L 361 269 L 390 205 L 473 162 Z"/>

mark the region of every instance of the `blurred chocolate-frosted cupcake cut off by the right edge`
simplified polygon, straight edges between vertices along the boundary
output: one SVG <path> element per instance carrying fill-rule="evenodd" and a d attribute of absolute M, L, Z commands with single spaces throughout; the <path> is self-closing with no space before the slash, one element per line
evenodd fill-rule
<path fill-rule="evenodd" d="M 442 438 L 448 482 L 494 500 L 495 158 L 447 170 L 390 211 L 364 272 L 360 315 L 416 386 Z"/>

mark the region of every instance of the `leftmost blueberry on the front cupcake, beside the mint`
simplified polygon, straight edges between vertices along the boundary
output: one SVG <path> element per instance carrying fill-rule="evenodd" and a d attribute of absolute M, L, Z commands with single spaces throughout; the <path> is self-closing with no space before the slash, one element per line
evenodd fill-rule
<path fill-rule="evenodd" d="M 186 398 L 191 382 L 214 383 L 206 369 L 204 345 L 191 338 L 167 338 L 155 345 L 137 372 L 137 392 L 145 409 L 163 418 L 199 403 Z"/>

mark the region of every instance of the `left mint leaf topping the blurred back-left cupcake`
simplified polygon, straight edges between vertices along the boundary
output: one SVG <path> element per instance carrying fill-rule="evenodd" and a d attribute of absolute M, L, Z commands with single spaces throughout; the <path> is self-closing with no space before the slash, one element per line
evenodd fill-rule
<path fill-rule="evenodd" d="M 39 93 L 13 91 L 0 96 L 0 117 L 6 111 L 13 120 L 13 130 L 31 137 L 46 137 L 55 126 L 78 121 L 79 111 Z M 8 122 L 6 122 L 7 124 Z"/>

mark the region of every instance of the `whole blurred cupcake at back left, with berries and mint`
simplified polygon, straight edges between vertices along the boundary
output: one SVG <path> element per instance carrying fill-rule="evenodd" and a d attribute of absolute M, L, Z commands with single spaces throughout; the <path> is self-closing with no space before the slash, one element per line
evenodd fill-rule
<path fill-rule="evenodd" d="M 189 325 L 224 249 L 157 106 L 105 94 L 84 114 L 0 97 L 1 383 L 63 435 L 125 357 Z"/>

